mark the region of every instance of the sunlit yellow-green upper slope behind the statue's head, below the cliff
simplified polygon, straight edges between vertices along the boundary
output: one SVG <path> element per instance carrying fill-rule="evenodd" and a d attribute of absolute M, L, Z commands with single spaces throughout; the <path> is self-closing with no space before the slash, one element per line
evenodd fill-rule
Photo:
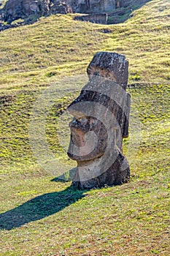
<path fill-rule="evenodd" d="M 0 86 L 48 84 L 55 75 L 70 75 L 75 63 L 76 72 L 84 73 L 97 50 L 125 54 L 130 62 L 130 83 L 134 73 L 144 83 L 169 83 L 169 1 L 151 1 L 126 23 L 114 26 L 52 15 L 34 25 L 2 32 Z M 49 81 L 51 70 L 55 73 Z"/>

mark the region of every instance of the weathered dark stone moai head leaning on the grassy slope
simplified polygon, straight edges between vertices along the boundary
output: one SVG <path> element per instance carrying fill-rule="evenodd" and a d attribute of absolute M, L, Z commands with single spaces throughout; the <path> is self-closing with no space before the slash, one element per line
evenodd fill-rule
<path fill-rule="evenodd" d="M 74 118 L 67 154 L 77 161 L 72 181 L 77 189 L 122 184 L 130 177 L 122 151 L 131 102 L 128 61 L 118 53 L 98 52 L 87 72 L 88 83 L 68 108 Z"/>

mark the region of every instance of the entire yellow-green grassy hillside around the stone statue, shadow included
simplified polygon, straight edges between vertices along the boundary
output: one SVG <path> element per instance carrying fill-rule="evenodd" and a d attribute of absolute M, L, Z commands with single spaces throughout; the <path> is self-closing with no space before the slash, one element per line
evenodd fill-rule
<path fill-rule="evenodd" d="M 1 32 L 2 255 L 169 255 L 169 10 L 169 0 L 153 0 L 122 24 L 53 15 Z M 129 61 L 131 181 L 77 192 L 36 164 L 28 124 L 36 99 L 55 85 L 45 136 L 56 173 L 75 165 L 56 127 L 98 50 Z"/>

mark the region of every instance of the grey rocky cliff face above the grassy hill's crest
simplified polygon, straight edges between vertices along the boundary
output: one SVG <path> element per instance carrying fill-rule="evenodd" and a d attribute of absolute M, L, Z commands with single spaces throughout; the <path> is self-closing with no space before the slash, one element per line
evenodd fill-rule
<path fill-rule="evenodd" d="M 144 4 L 150 0 L 7 0 L 0 10 L 0 19 L 7 23 L 29 15 L 50 15 L 51 13 L 104 13 L 133 4 Z M 98 19 L 97 19 L 98 20 Z"/>

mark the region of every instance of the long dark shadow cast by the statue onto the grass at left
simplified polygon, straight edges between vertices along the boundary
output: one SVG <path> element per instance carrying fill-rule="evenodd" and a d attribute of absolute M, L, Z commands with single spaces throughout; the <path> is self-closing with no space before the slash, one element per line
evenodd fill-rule
<path fill-rule="evenodd" d="M 28 200 L 22 205 L 0 214 L 0 229 L 12 230 L 26 223 L 43 219 L 85 197 L 84 191 L 72 187 L 60 192 L 47 193 Z"/>

